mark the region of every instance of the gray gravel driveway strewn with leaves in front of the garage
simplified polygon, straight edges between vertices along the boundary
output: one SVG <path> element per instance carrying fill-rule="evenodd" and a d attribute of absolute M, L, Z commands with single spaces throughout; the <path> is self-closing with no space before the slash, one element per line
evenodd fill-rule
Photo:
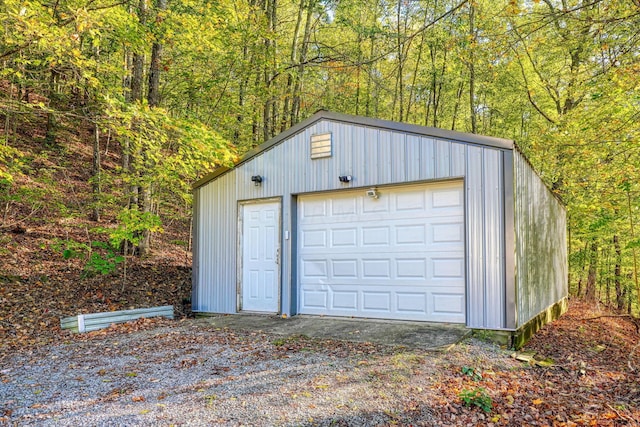
<path fill-rule="evenodd" d="M 486 344 L 429 353 L 200 320 L 123 326 L 2 358 L 0 424 L 442 425 L 440 374 L 498 354 Z"/>

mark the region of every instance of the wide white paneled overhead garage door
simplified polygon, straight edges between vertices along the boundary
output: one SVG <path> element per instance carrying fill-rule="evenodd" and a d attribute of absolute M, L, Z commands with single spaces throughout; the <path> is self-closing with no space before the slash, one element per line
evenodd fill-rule
<path fill-rule="evenodd" d="M 300 196 L 302 314 L 465 321 L 461 181 Z"/>

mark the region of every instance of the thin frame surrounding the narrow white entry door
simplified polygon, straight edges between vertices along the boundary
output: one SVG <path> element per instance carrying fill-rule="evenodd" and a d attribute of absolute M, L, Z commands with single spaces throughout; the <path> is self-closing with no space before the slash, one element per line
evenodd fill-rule
<path fill-rule="evenodd" d="M 251 200 L 239 200 L 238 201 L 238 241 L 236 243 L 236 312 L 243 311 L 242 308 L 242 279 L 243 279 L 243 244 L 244 244 L 244 207 L 247 205 L 259 205 L 266 203 L 278 204 L 278 218 L 276 220 L 278 224 L 278 233 L 276 237 L 276 250 L 278 254 L 278 267 L 276 269 L 278 277 L 276 282 L 278 284 L 278 307 L 276 313 L 282 311 L 282 197 L 269 197 L 265 199 L 251 199 Z M 266 313 L 266 312 L 265 312 Z"/>

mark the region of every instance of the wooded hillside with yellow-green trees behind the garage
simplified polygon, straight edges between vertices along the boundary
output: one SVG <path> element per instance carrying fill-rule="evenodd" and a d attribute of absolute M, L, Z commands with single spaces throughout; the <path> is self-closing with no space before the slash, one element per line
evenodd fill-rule
<path fill-rule="evenodd" d="M 188 265 L 190 184 L 324 108 L 514 139 L 567 205 L 572 292 L 637 313 L 638 0 L 5 0 L 0 20 L 3 281 Z"/>

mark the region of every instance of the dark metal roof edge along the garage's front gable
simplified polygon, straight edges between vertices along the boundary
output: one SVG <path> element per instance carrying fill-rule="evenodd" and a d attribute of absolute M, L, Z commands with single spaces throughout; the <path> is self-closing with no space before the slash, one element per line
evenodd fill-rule
<path fill-rule="evenodd" d="M 192 188 L 195 190 L 199 187 L 202 187 L 206 183 L 213 181 L 214 179 L 218 178 L 221 175 L 224 175 L 225 173 L 229 172 L 235 167 L 240 166 L 244 162 L 251 160 L 252 158 L 258 156 L 259 154 L 287 140 L 291 136 L 299 132 L 302 132 L 304 129 L 306 129 L 307 127 L 313 125 L 314 123 L 320 120 L 330 120 L 334 122 L 349 123 L 349 124 L 358 125 L 358 126 L 379 128 L 379 129 L 385 129 L 385 130 L 390 130 L 395 132 L 411 133 L 411 134 L 420 135 L 420 136 L 431 136 L 435 138 L 446 139 L 449 141 L 457 141 L 457 142 L 464 142 L 467 144 L 501 148 L 504 150 L 513 150 L 515 147 L 514 142 L 509 139 L 496 138 L 496 137 L 477 135 L 477 134 L 466 133 L 466 132 L 445 130 L 445 129 L 434 128 L 429 126 L 420 126 L 420 125 L 414 125 L 409 123 L 394 122 L 391 120 L 380 120 L 380 119 L 373 119 L 371 117 L 354 116 L 350 114 L 342 114 L 342 113 L 335 113 L 332 111 L 320 110 L 316 112 L 313 116 L 309 117 L 308 119 L 301 121 L 297 125 L 292 126 L 286 131 L 276 135 L 270 140 L 248 151 L 244 156 L 242 156 L 242 158 L 234 166 L 232 167 L 222 166 L 217 168 L 213 172 L 206 174 L 205 176 L 200 178 L 198 181 L 196 181 L 193 184 Z"/>

